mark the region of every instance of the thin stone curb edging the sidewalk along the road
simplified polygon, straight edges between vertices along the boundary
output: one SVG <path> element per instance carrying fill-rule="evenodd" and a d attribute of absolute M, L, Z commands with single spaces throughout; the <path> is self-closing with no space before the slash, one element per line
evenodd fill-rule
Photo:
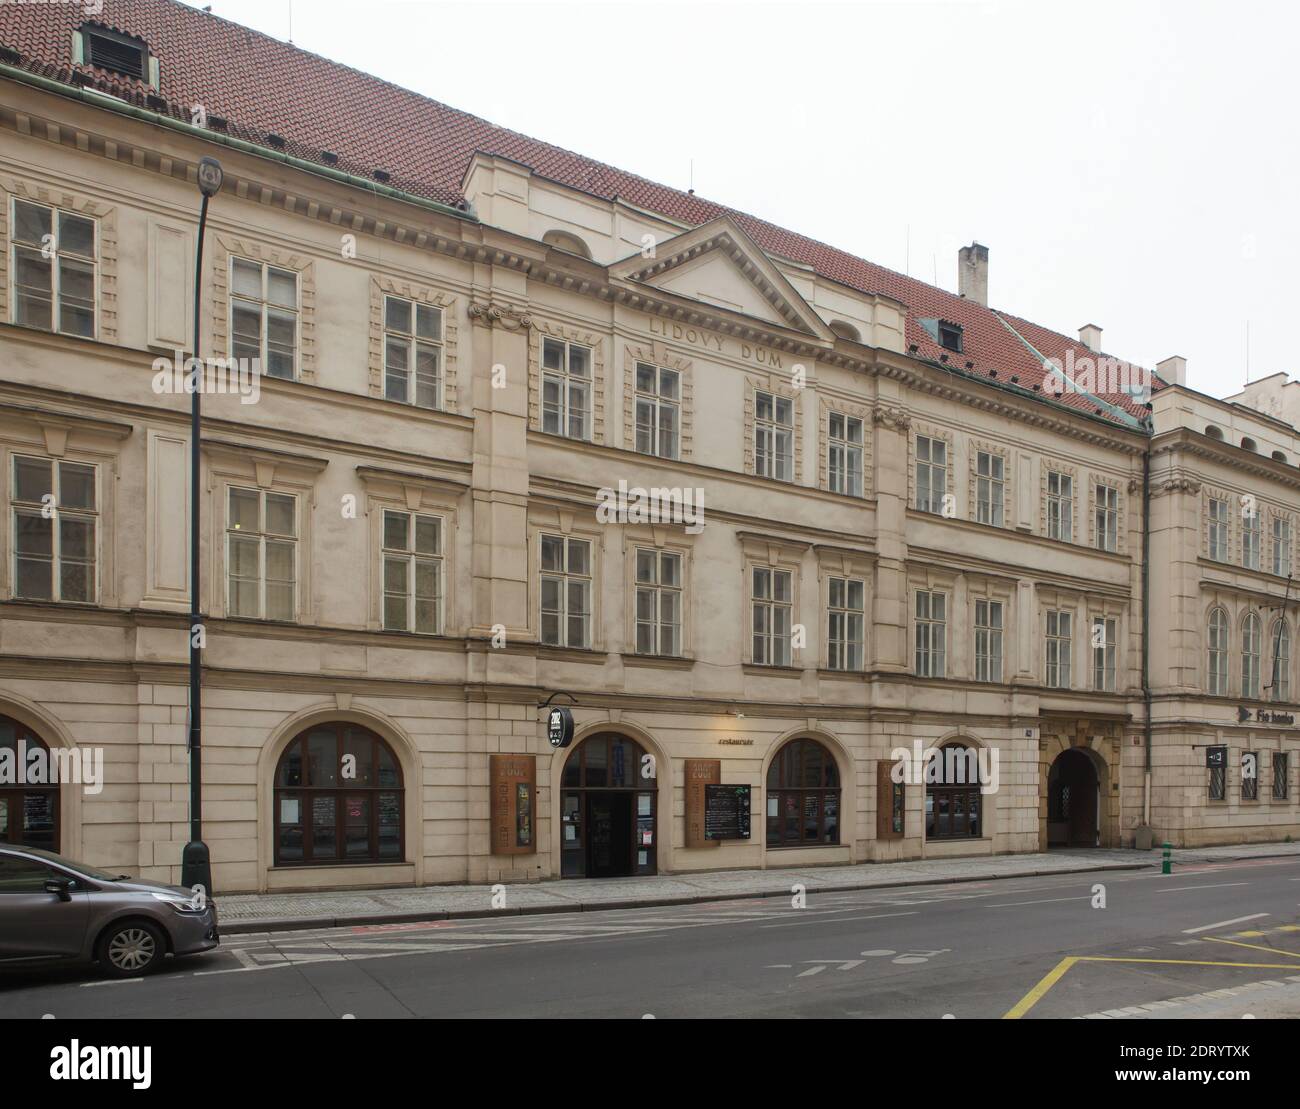
<path fill-rule="evenodd" d="M 1248 858 L 1261 858 L 1249 855 Z M 857 893 L 868 889 L 901 889 L 910 885 L 957 885 L 968 881 L 1002 881 L 1013 878 L 1048 878 L 1069 874 L 1105 874 L 1114 870 L 1147 870 L 1160 859 L 1147 862 L 1115 862 L 1106 866 L 1079 866 L 1065 870 L 1024 870 L 1018 874 L 968 874 L 961 878 L 910 878 L 897 881 L 849 883 L 844 885 L 818 885 L 810 894 Z M 416 924 L 426 920 L 473 920 L 485 917 L 540 917 L 559 913 L 602 913 L 610 909 L 655 909 L 672 905 L 705 905 L 711 901 L 760 901 L 785 897 L 788 889 L 748 889 L 728 893 L 692 893 L 685 897 L 632 897 L 614 901 L 573 901 L 556 905 L 525 905 L 519 909 L 416 909 L 410 913 L 367 913 L 346 917 L 268 917 L 255 920 L 231 920 L 220 924 L 224 936 L 247 936 L 261 932 L 300 932 L 317 928 L 350 928 L 365 924 Z M 216 898 L 220 911 L 221 898 Z"/>

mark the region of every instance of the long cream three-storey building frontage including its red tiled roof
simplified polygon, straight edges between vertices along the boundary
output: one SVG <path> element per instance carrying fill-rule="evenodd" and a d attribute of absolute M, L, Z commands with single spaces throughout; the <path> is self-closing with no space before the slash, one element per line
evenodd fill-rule
<path fill-rule="evenodd" d="M 0 841 L 179 876 L 191 511 L 218 892 L 1300 832 L 1279 382 L 1062 393 L 1100 329 L 988 308 L 978 244 L 953 295 L 481 121 L 361 170 L 351 109 L 173 59 L 341 68 L 62 7 L 0 12 L 0 751 L 103 781 L 0 781 Z M 256 373 L 205 372 L 191 504 L 205 155 L 202 354 Z M 894 781 L 932 749 L 996 788 Z"/>

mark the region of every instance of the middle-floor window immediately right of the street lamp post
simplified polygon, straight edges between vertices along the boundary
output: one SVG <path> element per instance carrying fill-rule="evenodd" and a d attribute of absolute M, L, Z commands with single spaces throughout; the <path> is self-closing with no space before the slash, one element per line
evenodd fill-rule
<path fill-rule="evenodd" d="M 231 616 L 292 620 L 296 611 L 298 498 L 229 490 L 226 608 Z"/>

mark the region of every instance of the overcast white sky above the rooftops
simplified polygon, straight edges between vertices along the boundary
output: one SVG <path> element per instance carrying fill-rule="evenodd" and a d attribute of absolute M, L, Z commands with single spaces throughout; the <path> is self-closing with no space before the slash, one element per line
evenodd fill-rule
<path fill-rule="evenodd" d="M 1300 372 L 1297 9 L 292 0 L 292 40 L 946 289 L 979 239 L 994 308 L 1225 395 L 1248 325 Z"/>

